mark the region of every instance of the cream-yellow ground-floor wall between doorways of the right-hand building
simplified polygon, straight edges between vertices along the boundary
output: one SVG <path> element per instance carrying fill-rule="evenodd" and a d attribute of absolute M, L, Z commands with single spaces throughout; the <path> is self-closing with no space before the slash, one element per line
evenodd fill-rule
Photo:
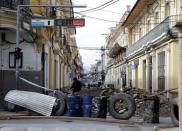
<path fill-rule="evenodd" d="M 179 67 L 179 50 L 177 41 L 169 41 L 164 43 L 165 45 L 153 50 L 150 55 L 152 56 L 152 87 L 153 91 L 158 90 L 158 54 L 160 52 L 165 52 L 165 89 L 178 87 L 178 67 Z M 132 79 L 132 86 L 138 87 L 140 89 L 146 89 L 147 76 L 144 61 L 147 56 L 143 55 L 139 57 L 138 72 L 136 68 L 129 67 L 132 70 L 132 76 L 127 73 L 127 77 Z M 128 63 L 132 65 L 133 61 Z M 137 74 L 136 74 L 137 73 Z M 138 76 L 137 76 L 138 75 Z M 138 78 L 137 78 L 138 77 Z M 137 84 L 136 84 L 137 80 Z"/>

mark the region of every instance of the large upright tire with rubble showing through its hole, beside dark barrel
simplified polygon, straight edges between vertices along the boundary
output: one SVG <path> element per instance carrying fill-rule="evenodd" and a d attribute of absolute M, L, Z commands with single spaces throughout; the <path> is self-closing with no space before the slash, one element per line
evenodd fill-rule
<path fill-rule="evenodd" d="M 124 113 L 120 113 L 115 109 L 115 104 L 118 101 L 119 102 L 122 101 L 122 102 L 125 102 L 127 104 L 127 111 L 126 112 L 124 111 Z M 125 110 L 125 109 L 123 109 L 123 110 Z M 128 94 L 117 93 L 117 94 L 114 94 L 109 99 L 109 113 L 112 115 L 112 117 L 114 117 L 116 119 L 128 120 L 129 118 L 131 118 L 134 115 L 135 110 L 136 110 L 135 101 Z"/>

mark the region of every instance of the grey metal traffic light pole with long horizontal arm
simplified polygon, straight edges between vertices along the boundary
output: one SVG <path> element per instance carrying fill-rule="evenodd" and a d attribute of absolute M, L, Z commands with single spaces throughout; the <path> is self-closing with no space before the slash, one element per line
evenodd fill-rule
<path fill-rule="evenodd" d="M 86 8 L 84 5 L 70 6 L 70 5 L 17 5 L 17 23 L 16 23 L 16 49 L 19 48 L 20 45 L 20 10 L 24 7 L 54 7 L 56 9 L 60 8 Z M 19 58 L 16 58 L 16 89 L 19 87 Z"/>

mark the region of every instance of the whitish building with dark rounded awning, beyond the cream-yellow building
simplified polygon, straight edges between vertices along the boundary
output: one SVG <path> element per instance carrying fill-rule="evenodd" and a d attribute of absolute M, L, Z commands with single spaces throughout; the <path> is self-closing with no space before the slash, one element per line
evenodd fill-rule
<path fill-rule="evenodd" d="M 106 38 L 107 50 L 107 69 L 105 84 L 112 84 L 115 88 L 122 89 L 126 86 L 126 49 L 128 48 L 128 32 L 122 26 L 127 15 L 130 12 L 130 6 L 122 16 L 119 24 L 111 29 L 111 33 Z"/>

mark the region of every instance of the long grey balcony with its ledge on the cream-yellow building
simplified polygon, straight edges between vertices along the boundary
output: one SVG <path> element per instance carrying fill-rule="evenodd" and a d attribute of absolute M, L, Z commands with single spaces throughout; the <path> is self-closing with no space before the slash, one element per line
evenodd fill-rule
<path fill-rule="evenodd" d="M 144 35 L 141 39 L 135 42 L 130 48 L 126 50 L 126 56 L 129 57 L 134 53 L 137 53 L 144 49 L 145 47 L 154 44 L 154 41 L 160 40 L 162 36 L 166 34 L 168 36 L 175 36 L 176 31 L 174 25 L 177 21 L 181 20 L 182 15 L 174 15 L 167 17 L 164 21 L 162 21 L 159 25 L 154 27 L 149 33 Z"/>

